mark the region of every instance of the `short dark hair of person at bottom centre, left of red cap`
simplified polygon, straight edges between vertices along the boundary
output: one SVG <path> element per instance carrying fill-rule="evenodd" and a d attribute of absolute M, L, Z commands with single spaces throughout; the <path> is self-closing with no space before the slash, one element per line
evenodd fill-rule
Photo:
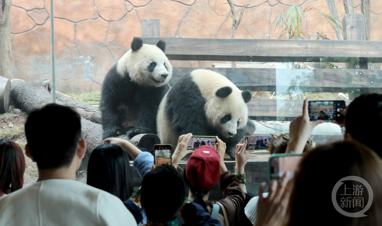
<path fill-rule="evenodd" d="M 148 220 L 155 223 L 171 220 L 184 199 L 184 182 L 174 167 L 166 164 L 157 166 L 143 178 L 141 203 Z"/>

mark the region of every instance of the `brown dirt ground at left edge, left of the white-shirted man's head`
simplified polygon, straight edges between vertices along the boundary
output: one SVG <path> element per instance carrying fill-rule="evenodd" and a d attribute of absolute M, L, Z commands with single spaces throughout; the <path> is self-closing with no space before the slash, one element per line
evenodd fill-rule
<path fill-rule="evenodd" d="M 0 115 L 0 137 L 7 138 L 16 142 L 22 148 L 25 156 L 25 173 L 24 173 L 24 187 L 33 184 L 37 181 L 38 170 L 36 163 L 25 155 L 25 133 L 24 124 L 26 114 L 24 112 L 11 112 Z"/>

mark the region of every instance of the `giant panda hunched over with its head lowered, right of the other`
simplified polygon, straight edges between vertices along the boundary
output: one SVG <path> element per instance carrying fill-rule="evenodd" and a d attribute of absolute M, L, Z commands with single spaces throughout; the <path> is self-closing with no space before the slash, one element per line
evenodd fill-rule
<path fill-rule="evenodd" d="M 176 147 L 179 136 L 219 136 L 234 159 L 235 146 L 255 132 L 248 119 L 249 90 L 239 90 L 225 76 L 204 69 L 192 71 L 176 83 L 162 99 L 157 131 L 164 144 Z"/>

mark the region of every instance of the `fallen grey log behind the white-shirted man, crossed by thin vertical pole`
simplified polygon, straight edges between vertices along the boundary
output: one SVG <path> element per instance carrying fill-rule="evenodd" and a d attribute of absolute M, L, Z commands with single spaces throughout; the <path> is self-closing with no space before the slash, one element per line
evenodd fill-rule
<path fill-rule="evenodd" d="M 34 82 L 25 82 L 15 79 L 12 81 L 12 101 L 21 110 L 30 112 L 36 108 L 51 103 L 51 90 L 49 81 L 38 80 Z M 84 118 L 94 122 L 101 123 L 101 113 L 93 106 L 78 103 L 78 101 L 68 98 L 60 93 L 56 95 L 56 103 L 73 108 Z"/>

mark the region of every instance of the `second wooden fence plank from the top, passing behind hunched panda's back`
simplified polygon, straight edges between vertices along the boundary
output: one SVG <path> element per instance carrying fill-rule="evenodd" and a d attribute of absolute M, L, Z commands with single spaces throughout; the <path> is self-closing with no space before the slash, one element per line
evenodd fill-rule
<path fill-rule="evenodd" d="M 201 68 L 173 67 L 170 84 Z M 349 92 L 360 88 L 363 92 L 382 93 L 381 70 L 336 69 L 274 69 L 274 68 L 203 68 L 218 72 L 239 89 L 251 91 Z"/>

